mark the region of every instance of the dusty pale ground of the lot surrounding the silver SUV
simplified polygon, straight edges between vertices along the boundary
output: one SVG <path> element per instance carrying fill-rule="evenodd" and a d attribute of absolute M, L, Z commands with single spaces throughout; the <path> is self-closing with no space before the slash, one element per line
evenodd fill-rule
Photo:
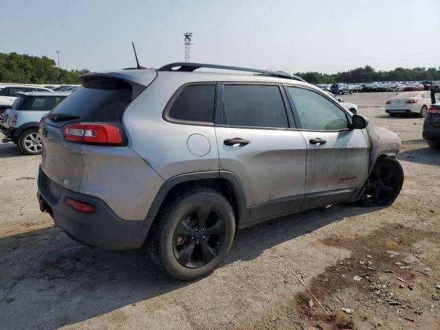
<path fill-rule="evenodd" d="M 41 157 L 0 145 L 0 329 L 439 329 L 440 153 L 421 140 L 423 118 L 384 112 L 393 95 L 342 96 L 402 140 L 393 206 L 337 204 L 241 230 L 223 266 L 190 283 L 144 250 L 89 248 L 54 228 L 36 201 Z"/>

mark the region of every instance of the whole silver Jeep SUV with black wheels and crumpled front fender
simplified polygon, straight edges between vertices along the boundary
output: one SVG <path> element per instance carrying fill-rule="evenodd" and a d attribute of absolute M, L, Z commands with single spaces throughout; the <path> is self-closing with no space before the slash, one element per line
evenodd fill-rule
<path fill-rule="evenodd" d="M 146 242 L 181 280 L 218 267 L 239 228 L 340 201 L 386 206 L 403 184 L 395 133 L 290 74 L 173 63 L 82 80 L 40 125 L 41 210 L 89 245 Z"/>

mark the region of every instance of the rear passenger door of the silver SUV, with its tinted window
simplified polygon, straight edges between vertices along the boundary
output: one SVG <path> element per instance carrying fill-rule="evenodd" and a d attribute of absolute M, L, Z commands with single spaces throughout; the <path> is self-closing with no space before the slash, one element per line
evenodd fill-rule
<path fill-rule="evenodd" d="M 245 191 L 251 221 L 299 210 L 304 200 L 305 141 L 278 85 L 219 85 L 215 132 L 219 168 Z"/>

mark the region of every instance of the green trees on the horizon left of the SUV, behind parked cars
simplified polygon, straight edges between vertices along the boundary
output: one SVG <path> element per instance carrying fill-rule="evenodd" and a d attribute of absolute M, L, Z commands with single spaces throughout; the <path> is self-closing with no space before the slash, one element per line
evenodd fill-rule
<path fill-rule="evenodd" d="M 79 84 L 79 76 L 87 69 L 60 69 L 52 58 L 27 54 L 0 53 L 0 83 Z"/>

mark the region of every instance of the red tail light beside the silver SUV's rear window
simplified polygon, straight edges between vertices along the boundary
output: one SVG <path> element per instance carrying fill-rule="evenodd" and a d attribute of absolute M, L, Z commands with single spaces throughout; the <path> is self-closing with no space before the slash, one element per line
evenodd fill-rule
<path fill-rule="evenodd" d="M 111 124 L 79 122 L 63 126 L 66 141 L 78 143 L 121 144 L 122 134 Z"/>

